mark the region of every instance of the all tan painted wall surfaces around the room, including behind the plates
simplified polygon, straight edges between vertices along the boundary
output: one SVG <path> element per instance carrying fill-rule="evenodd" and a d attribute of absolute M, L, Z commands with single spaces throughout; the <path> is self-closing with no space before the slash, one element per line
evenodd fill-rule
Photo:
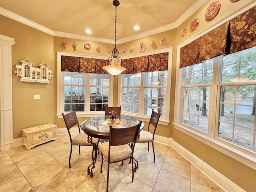
<path fill-rule="evenodd" d="M 203 30 L 206 26 L 219 20 L 222 16 L 233 12 L 236 8 L 241 7 L 250 0 L 240 0 L 236 3 L 231 3 L 228 0 L 221 1 L 221 9 L 216 18 L 210 22 L 204 20 L 204 12 L 210 3 L 206 3 L 202 8 L 198 10 L 193 16 L 188 18 L 184 24 L 180 25 L 177 29 L 148 36 L 142 39 L 134 40 L 124 44 L 117 45 L 120 51 L 120 56 L 138 54 L 140 41 L 146 42 L 146 52 L 173 47 L 173 59 L 172 59 L 172 74 L 171 74 L 171 98 L 170 99 L 170 121 L 173 122 L 174 118 L 174 96 L 175 96 L 175 76 L 176 76 L 176 46 L 184 40 L 192 37 L 193 35 Z M 209 1 L 211 2 L 211 1 Z M 200 19 L 198 29 L 194 32 L 189 30 L 190 23 L 194 18 Z M 74 40 L 70 38 L 53 37 L 51 35 L 40 32 L 34 28 L 30 28 L 19 22 L 6 18 L 0 15 L 0 34 L 9 36 L 15 39 L 16 44 L 12 46 L 12 91 L 13 91 L 13 138 L 22 137 L 22 128 L 35 126 L 44 123 L 54 123 L 58 125 L 58 128 L 64 128 L 65 124 L 62 118 L 57 118 L 57 66 L 56 56 L 57 52 L 71 52 L 79 54 L 88 54 L 95 56 L 109 56 L 104 50 L 106 46 L 109 46 L 111 50 L 113 45 L 104 44 L 98 42 L 90 42 L 92 48 L 87 51 L 83 48 L 86 40 Z M 4 26 L 4 27 L 3 27 Z M 187 29 L 187 34 L 184 37 L 180 36 L 180 32 L 183 28 Z M 160 45 L 161 38 L 166 38 L 166 43 Z M 155 46 L 149 45 L 150 41 L 155 42 Z M 61 45 L 62 42 L 67 42 L 70 46 L 64 49 Z M 78 50 L 72 48 L 74 42 L 78 43 Z M 134 45 L 134 52 L 130 52 L 130 47 Z M 101 52 L 96 52 L 96 46 L 100 46 Z M 126 54 L 122 53 L 122 49 L 126 48 Z M 19 61 L 23 59 L 30 59 L 35 66 L 42 62 L 46 62 L 50 65 L 50 69 L 54 72 L 54 78 L 50 81 L 50 84 L 40 83 L 28 83 L 20 82 L 20 77 L 14 74 L 15 65 L 19 64 Z M 113 106 L 117 106 L 117 77 L 114 79 L 114 103 Z M 40 100 L 34 100 L 34 94 L 40 94 Z M 80 118 L 79 122 L 82 122 L 85 118 Z M 147 127 L 145 123 L 145 127 Z M 164 137 L 171 137 L 178 144 L 188 149 L 190 152 L 198 156 L 204 162 L 212 166 L 212 168 L 219 171 L 221 174 L 232 180 L 238 186 L 242 187 L 246 191 L 254 191 L 256 183 L 254 178 L 256 177 L 256 170 L 245 166 L 244 164 L 226 156 L 217 150 L 199 142 L 198 140 L 174 129 L 172 124 L 170 126 L 159 125 L 156 131 L 157 135 Z"/>

